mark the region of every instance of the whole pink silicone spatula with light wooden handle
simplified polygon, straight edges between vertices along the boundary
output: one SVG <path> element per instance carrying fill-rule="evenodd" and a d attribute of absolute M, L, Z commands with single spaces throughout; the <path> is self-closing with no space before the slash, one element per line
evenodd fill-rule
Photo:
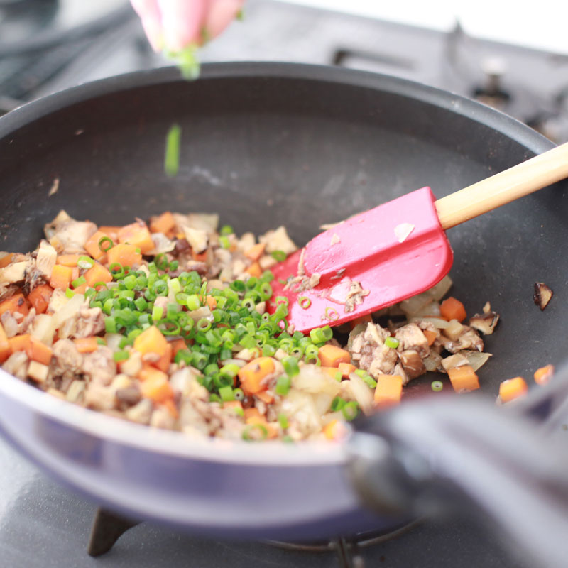
<path fill-rule="evenodd" d="M 430 187 L 317 235 L 272 270 L 300 332 L 339 325 L 431 288 L 452 266 L 444 231 L 568 177 L 568 143 L 435 200 Z"/>

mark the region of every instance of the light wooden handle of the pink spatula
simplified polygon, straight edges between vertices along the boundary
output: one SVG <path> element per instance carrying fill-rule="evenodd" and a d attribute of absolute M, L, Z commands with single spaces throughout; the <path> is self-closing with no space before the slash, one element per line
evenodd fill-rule
<path fill-rule="evenodd" d="M 443 229 L 568 178 L 568 143 L 552 148 L 435 202 Z"/>

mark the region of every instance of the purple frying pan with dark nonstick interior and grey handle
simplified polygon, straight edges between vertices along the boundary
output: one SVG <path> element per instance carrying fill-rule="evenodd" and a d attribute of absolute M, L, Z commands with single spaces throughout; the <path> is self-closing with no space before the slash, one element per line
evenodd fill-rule
<path fill-rule="evenodd" d="M 181 165 L 167 178 L 174 122 Z M 206 65 L 196 82 L 140 72 L 0 119 L 2 248 L 32 250 L 62 208 L 104 224 L 165 209 L 219 212 L 239 234 L 285 224 L 302 244 L 322 223 L 423 185 L 442 197 L 550 147 L 497 111 L 393 77 L 266 63 Z M 485 397 L 417 397 L 361 422 L 342 444 L 229 444 L 94 413 L 1 372 L 1 429 L 63 483 L 135 518 L 227 537 L 315 538 L 386 529 L 444 499 L 475 502 L 508 534 L 538 541 L 525 544 L 541 561 L 548 548 L 552 565 L 564 552 L 566 452 L 519 415 L 550 416 L 566 373 L 516 408 L 496 410 L 493 400 L 504 378 L 566 356 L 567 189 L 448 232 L 453 295 L 469 313 L 490 301 L 501 314 L 479 371 Z M 555 291 L 544 312 L 532 303 L 537 281 Z"/>

